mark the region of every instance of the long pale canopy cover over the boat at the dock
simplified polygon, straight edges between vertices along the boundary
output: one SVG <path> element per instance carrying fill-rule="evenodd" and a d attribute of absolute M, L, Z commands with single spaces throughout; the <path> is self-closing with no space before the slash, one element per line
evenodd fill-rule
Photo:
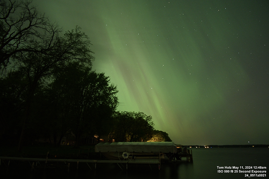
<path fill-rule="evenodd" d="M 95 152 L 146 152 L 176 153 L 173 142 L 106 142 L 95 145 Z"/>

